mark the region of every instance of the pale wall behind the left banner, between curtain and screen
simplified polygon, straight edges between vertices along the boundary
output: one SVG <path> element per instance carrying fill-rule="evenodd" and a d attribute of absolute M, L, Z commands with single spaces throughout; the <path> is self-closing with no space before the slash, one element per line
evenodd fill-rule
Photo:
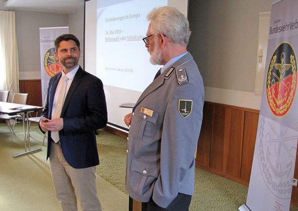
<path fill-rule="evenodd" d="M 39 28 L 69 26 L 83 52 L 83 10 L 71 14 L 16 11 L 15 19 L 20 80 L 41 78 Z M 82 62 L 81 58 L 80 65 Z"/>

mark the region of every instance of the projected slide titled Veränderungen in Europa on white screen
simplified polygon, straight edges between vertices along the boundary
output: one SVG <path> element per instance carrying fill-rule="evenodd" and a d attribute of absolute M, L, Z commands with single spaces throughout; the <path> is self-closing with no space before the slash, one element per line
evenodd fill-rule
<path fill-rule="evenodd" d="M 97 1 L 96 75 L 105 85 L 144 91 L 161 66 L 149 62 L 142 38 L 147 14 L 167 0 Z"/>

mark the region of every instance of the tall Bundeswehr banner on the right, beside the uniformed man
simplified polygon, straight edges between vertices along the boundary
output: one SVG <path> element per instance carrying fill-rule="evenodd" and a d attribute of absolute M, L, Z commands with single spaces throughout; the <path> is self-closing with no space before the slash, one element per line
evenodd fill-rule
<path fill-rule="evenodd" d="M 289 211 L 298 140 L 298 0 L 272 5 L 264 86 L 246 205 Z"/>

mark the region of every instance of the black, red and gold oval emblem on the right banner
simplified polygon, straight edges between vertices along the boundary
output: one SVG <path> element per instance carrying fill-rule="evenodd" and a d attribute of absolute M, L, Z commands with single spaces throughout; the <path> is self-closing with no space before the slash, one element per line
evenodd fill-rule
<path fill-rule="evenodd" d="M 271 112 L 283 117 L 290 110 L 297 89 L 296 54 L 290 43 L 281 43 L 274 51 L 267 74 L 266 95 Z"/>

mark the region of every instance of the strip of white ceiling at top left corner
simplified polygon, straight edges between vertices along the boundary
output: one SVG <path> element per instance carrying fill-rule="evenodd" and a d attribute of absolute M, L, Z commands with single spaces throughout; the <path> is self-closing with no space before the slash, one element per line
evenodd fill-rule
<path fill-rule="evenodd" d="M 70 14 L 84 8 L 84 0 L 0 0 L 0 8 Z"/>

